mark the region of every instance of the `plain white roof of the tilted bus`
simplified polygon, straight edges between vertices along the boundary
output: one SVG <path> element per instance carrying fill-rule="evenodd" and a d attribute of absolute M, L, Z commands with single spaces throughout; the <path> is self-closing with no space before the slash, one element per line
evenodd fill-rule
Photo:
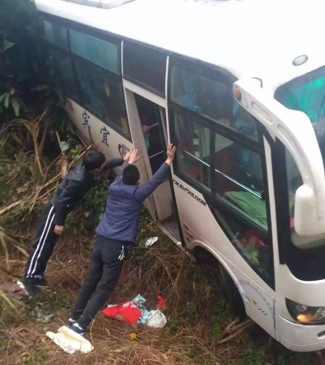
<path fill-rule="evenodd" d="M 112 9 L 35 0 L 40 11 L 279 85 L 324 65 L 325 2 L 134 0 Z M 299 55 L 308 61 L 292 65 Z"/>

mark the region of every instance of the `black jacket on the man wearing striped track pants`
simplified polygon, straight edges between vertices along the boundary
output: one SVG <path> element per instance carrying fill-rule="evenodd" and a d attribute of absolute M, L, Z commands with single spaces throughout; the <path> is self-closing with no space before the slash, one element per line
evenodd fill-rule
<path fill-rule="evenodd" d="M 106 162 L 104 169 L 121 166 L 123 162 L 123 158 L 110 160 Z M 66 216 L 94 184 L 95 176 L 85 169 L 83 162 L 69 171 L 51 198 L 51 204 L 55 207 L 54 223 L 63 226 Z"/>

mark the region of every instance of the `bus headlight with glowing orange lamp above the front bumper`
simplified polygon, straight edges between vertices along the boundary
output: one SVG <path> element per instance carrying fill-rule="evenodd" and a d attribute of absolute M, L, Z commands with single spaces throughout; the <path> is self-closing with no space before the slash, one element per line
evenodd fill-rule
<path fill-rule="evenodd" d="M 324 323 L 325 307 L 311 307 L 286 298 L 288 312 L 300 323 Z"/>

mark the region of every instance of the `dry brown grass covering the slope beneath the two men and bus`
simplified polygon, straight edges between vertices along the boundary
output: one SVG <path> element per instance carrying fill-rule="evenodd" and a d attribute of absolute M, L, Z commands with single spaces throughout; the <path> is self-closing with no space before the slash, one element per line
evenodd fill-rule
<path fill-rule="evenodd" d="M 57 242 L 47 266 L 51 291 L 28 299 L 15 284 L 24 272 L 39 210 L 60 176 L 58 161 L 47 164 L 44 177 L 35 172 L 35 157 L 31 154 L 21 151 L 14 159 L 0 158 L 0 166 L 9 165 L 3 177 L 8 199 L 0 205 L 0 364 L 307 365 L 318 361 L 324 365 L 317 356 L 284 350 L 251 322 L 238 323 L 219 290 L 218 272 L 204 277 L 191 257 L 145 215 L 138 242 L 157 235 L 158 243 L 150 249 L 130 251 L 110 303 L 141 294 L 151 309 L 157 305 L 157 295 L 162 295 L 167 305 L 167 325 L 161 330 L 149 330 L 99 313 L 87 335 L 94 350 L 87 355 L 64 353 L 45 333 L 66 323 L 87 275 L 93 235 L 85 229 L 89 222 L 82 208 L 69 218 L 70 228 Z M 24 204 L 17 203 L 19 200 Z M 45 320 L 50 314 L 53 316 Z M 131 333 L 136 334 L 134 339 Z"/>

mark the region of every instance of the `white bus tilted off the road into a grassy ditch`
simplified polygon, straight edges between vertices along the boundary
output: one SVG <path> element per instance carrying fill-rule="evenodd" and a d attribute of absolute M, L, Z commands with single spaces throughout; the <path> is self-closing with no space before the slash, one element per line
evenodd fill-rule
<path fill-rule="evenodd" d="M 235 311 L 324 349 L 325 3 L 35 2 L 80 137 L 139 149 L 142 183 L 175 143 L 157 224 L 218 260 Z"/>

